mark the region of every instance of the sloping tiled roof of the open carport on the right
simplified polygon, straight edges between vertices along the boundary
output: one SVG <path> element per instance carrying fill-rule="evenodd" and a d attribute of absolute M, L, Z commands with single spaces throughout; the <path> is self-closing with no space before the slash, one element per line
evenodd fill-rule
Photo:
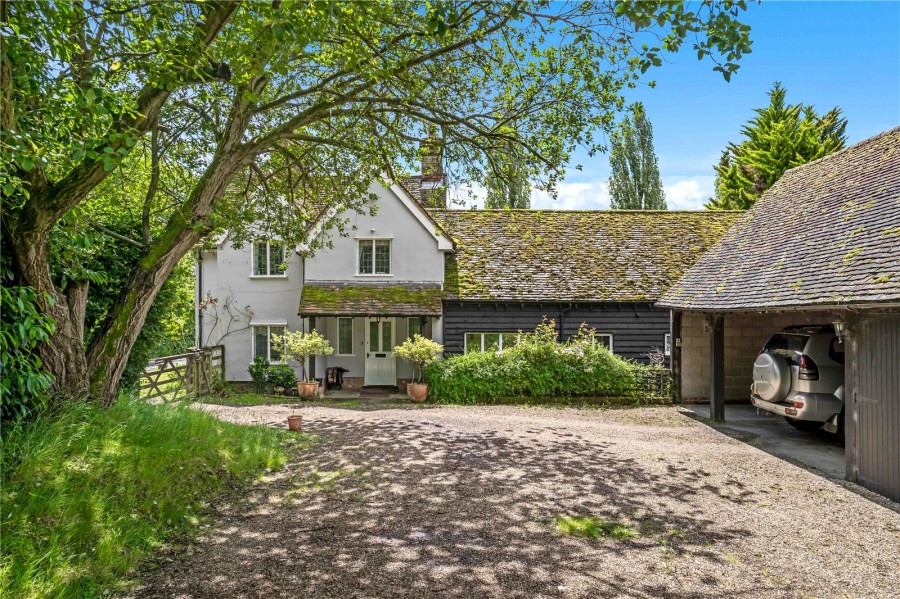
<path fill-rule="evenodd" d="M 786 172 L 659 303 L 900 303 L 900 127 Z"/>

